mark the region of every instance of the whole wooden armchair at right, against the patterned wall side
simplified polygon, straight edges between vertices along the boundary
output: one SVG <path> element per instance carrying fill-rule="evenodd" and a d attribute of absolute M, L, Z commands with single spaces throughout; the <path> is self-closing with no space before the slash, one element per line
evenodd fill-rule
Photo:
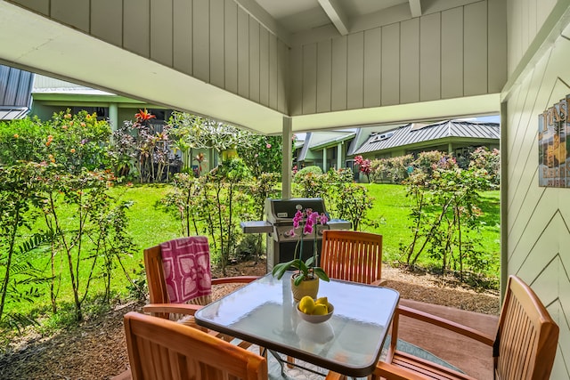
<path fill-rule="evenodd" d="M 550 318 L 549 312 L 534 294 L 533 289 L 516 276 L 509 277 L 497 335 L 494 338 L 450 320 L 398 306 L 393 320 L 387 359 L 379 361 L 372 376 L 372 379 L 386 378 L 387 380 L 473 379 L 451 368 L 396 350 L 395 342 L 398 338 L 400 316 L 444 327 L 450 336 L 453 333 L 460 334 L 488 345 L 489 352 L 493 352 L 493 360 L 488 361 L 493 362 L 495 379 L 542 380 L 550 378 L 557 352 L 558 325 Z M 434 339 L 445 339 L 445 336 L 434 336 Z M 463 350 L 465 355 L 473 354 L 468 346 L 463 347 Z M 335 373 L 327 376 L 327 380 L 338 378 L 341 376 Z"/>

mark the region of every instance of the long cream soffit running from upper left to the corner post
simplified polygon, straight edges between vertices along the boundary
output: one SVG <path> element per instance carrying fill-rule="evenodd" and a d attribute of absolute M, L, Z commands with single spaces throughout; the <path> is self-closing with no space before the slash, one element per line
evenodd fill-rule
<path fill-rule="evenodd" d="M 260 133 L 282 130 L 280 112 L 4 1 L 0 46 L 0 61 L 9 66 Z"/>

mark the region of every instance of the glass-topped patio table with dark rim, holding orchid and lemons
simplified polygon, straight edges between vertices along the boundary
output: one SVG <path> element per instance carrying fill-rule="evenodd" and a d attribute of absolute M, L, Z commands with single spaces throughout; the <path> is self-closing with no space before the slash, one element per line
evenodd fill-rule
<path fill-rule="evenodd" d="M 290 277 L 271 273 L 195 314 L 196 322 L 346 376 L 376 367 L 400 295 L 394 289 L 331 279 L 319 296 L 334 305 L 332 318 L 313 324 L 297 315 Z"/>

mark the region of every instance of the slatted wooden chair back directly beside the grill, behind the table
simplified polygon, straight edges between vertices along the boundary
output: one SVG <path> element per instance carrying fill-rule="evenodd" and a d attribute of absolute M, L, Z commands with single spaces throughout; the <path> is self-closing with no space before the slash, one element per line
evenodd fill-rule
<path fill-rule="evenodd" d="M 321 266 L 333 279 L 364 284 L 380 279 L 382 235 L 354 230 L 324 230 Z"/>

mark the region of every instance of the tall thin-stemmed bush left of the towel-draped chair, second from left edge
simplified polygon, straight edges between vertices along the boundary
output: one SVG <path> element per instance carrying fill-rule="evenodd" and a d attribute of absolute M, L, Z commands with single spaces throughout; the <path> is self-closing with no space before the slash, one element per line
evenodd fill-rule
<path fill-rule="evenodd" d="M 67 267 L 76 319 L 80 321 L 83 320 L 82 305 L 89 295 L 92 281 L 97 277 L 106 277 L 109 281 L 112 257 L 118 255 L 120 260 L 120 255 L 129 253 L 133 246 L 132 242 L 126 241 L 109 253 L 105 244 L 111 226 L 114 226 L 113 235 L 118 240 L 123 239 L 126 229 L 126 223 L 118 224 L 116 217 L 110 217 L 113 203 L 106 190 L 114 176 L 84 171 L 78 175 L 55 174 L 40 179 L 43 180 L 45 197 L 45 222 L 57 237 L 52 246 L 52 268 L 56 267 L 53 261 L 61 255 Z M 72 214 L 69 215 L 70 211 Z M 126 218 L 126 215 L 120 213 L 119 217 Z"/>

